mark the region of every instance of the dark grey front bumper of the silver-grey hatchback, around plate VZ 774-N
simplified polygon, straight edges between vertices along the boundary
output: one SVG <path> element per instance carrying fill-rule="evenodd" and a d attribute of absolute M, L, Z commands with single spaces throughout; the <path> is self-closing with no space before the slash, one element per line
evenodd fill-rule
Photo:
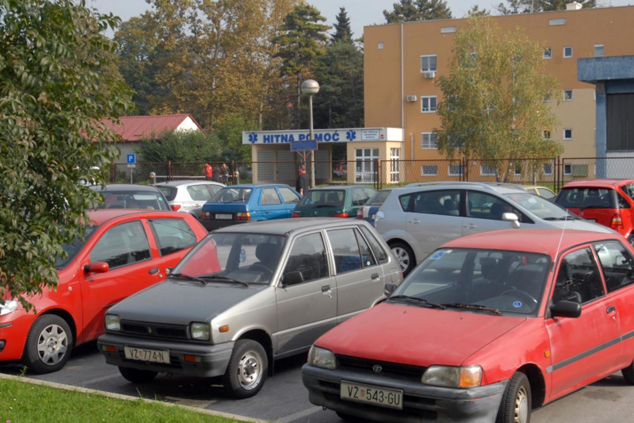
<path fill-rule="evenodd" d="M 223 342 L 222 344 L 194 344 L 188 342 L 177 342 L 171 340 L 144 339 L 106 333 L 97 340 L 97 347 L 106 358 L 106 363 L 136 368 L 139 370 L 150 370 L 152 372 L 174 373 L 177 375 L 195 377 L 214 377 L 223 375 L 234 342 Z M 113 346 L 116 352 L 103 351 L 103 346 Z M 150 363 L 149 361 L 138 361 L 127 359 L 124 346 L 146 348 L 146 349 L 167 349 L 169 350 L 169 364 Z M 185 361 L 185 354 L 200 357 L 199 362 Z"/>

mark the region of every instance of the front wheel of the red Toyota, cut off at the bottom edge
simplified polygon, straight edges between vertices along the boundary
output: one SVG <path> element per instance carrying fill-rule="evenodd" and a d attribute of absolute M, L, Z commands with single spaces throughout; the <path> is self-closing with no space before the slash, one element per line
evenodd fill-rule
<path fill-rule="evenodd" d="M 495 421 L 496 423 L 529 423 L 531 406 L 531 383 L 524 373 L 517 372 L 508 381 Z"/>

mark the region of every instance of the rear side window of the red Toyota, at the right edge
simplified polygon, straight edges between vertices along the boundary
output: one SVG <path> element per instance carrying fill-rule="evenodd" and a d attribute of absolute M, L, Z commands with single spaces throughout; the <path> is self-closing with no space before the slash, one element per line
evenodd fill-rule
<path fill-rule="evenodd" d="M 634 283 L 634 258 L 619 241 L 594 243 L 598 261 L 603 269 L 607 292 Z"/>

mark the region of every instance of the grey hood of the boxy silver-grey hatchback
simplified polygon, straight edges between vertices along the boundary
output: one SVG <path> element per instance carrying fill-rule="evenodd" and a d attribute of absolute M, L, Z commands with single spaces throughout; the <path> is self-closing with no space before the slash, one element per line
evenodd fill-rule
<path fill-rule="evenodd" d="M 113 306 L 108 313 L 120 318 L 171 325 L 208 321 L 231 305 L 245 300 L 268 285 L 207 283 L 167 279 Z"/>

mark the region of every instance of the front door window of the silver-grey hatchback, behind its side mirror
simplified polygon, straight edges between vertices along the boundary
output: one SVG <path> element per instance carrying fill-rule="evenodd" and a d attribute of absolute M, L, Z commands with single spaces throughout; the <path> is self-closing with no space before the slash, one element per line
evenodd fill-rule
<path fill-rule="evenodd" d="M 283 275 L 299 272 L 297 276 L 283 279 L 285 285 L 314 281 L 328 276 L 326 248 L 321 234 L 304 235 L 295 239 L 288 254 L 288 261 Z M 295 273 L 297 275 L 297 273 Z M 292 275 L 291 275 L 292 276 Z"/>

